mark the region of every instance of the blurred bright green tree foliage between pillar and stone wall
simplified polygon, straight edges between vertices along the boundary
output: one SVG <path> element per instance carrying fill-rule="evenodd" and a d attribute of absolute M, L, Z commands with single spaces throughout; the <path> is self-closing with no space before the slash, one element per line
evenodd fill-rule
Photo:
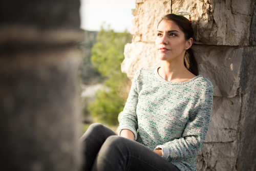
<path fill-rule="evenodd" d="M 122 90 L 130 80 L 121 72 L 120 64 L 124 59 L 124 45 L 131 40 L 131 34 L 126 31 L 116 33 L 101 27 L 92 48 L 92 63 L 101 76 L 106 77 L 106 89 L 96 93 L 96 100 L 89 105 L 89 111 L 110 125 L 118 124 L 117 117 L 125 102 Z"/>

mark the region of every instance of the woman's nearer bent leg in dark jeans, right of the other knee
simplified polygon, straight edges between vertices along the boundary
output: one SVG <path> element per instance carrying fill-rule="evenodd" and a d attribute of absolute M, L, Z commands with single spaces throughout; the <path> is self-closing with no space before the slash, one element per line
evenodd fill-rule
<path fill-rule="evenodd" d="M 179 169 L 144 145 L 110 136 L 103 143 L 92 171 L 178 171 Z"/>

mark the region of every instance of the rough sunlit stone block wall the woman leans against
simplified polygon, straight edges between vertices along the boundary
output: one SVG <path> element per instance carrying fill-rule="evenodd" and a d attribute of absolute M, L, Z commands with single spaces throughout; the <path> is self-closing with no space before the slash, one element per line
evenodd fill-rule
<path fill-rule="evenodd" d="M 256 3 L 254 0 L 136 0 L 122 72 L 157 67 L 155 32 L 171 12 L 191 13 L 200 75 L 214 84 L 209 132 L 198 170 L 256 169 Z"/>

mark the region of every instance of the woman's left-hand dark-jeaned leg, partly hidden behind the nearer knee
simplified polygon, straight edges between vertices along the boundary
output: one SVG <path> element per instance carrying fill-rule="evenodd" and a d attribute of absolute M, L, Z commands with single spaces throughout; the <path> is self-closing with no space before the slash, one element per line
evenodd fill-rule
<path fill-rule="evenodd" d="M 106 138 L 112 135 L 116 135 L 116 133 L 100 123 L 93 123 L 89 126 L 86 133 L 80 138 L 84 156 L 82 170 L 91 170 L 99 149 Z"/>

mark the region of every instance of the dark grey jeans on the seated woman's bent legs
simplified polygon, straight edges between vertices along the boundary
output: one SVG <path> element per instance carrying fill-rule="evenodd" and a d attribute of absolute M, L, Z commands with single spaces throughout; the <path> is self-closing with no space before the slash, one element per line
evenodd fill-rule
<path fill-rule="evenodd" d="M 180 171 L 146 146 L 119 137 L 99 123 L 90 125 L 80 140 L 84 155 L 82 170 Z"/>

